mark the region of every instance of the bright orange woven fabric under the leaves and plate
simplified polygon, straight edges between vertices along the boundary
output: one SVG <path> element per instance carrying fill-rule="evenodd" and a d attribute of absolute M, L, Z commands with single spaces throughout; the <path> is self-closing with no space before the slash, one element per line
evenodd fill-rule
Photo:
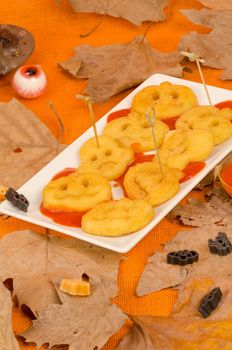
<path fill-rule="evenodd" d="M 175 50 L 183 33 L 198 30 L 207 33 L 209 29 L 189 22 L 180 12 L 183 8 L 201 8 L 196 0 L 170 0 L 165 12 L 167 20 L 153 25 L 147 38 L 152 45 L 163 52 Z M 10 82 L 12 74 L 0 79 L 0 100 L 9 101 L 17 97 L 51 129 L 55 136 L 58 127 L 48 102 L 52 101 L 58 110 L 64 125 L 63 142 L 70 143 L 90 126 L 90 119 L 86 107 L 74 98 L 81 93 L 85 81 L 75 80 L 63 73 L 57 62 L 68 59 L 72 55 L 72 48 L 81 44 L 94 46 L 130 41 L 135 35 L 143 34 L 146 24 L 136 27 L 127 21 L 106 16 L 100 28 L 87 38 L 80 38 L 81 33 L 92 29 L 99 21 L 99 16 L 91 14 L 75 14 L 68 5 L 68 0 L 1 0 L 0 23 L 21 25 L 31 31 L 36 40 L 36 48 L 27 63 L 41 64 L 47 74 L 48 88 L 46 92 L 35 100 L 26 101 L 16 96 Z M 205 78 L 208 84 L 231 89 L 232 82 L 219 80 L 220 71 L 205 68 Z M 199 81 L 198 73 L 185 74 L 189 80 Z M 129 91 L 120 93 L 103 105 L 95 105 L 96 119 L 109 111 Z M 31 228 L 44 233 L 44 229 L 24 223 L 13 218 L 1 219 L 0 236 L 8 232 Z M 144 269 L 149 255 L 161 244 L 169 240 L 180 229 L 176 224 L 163 220 L 153 229 L 134 249 L 126 254 L 127 259 L 121 264 L 119 271 L 119 292 L 116 302 L 119 307 L 130 314 L 151 314 L 167 316 L 175 301 L 175 293 L 163 291 L 146 297 L 135 296 L 135 288 L 139 276 Z M 155 278 L 155 277 L 154 277 Z M 13 316 L 14 330 L 22 332 L 30 326 L 30 321 L 15 309 Z M 120 336 L 126 332 L 126 327 L 114 336 L 104 349 L 114 349 Z M 22 349 L 34 349 L 33 345 L 23 345 Z"/>

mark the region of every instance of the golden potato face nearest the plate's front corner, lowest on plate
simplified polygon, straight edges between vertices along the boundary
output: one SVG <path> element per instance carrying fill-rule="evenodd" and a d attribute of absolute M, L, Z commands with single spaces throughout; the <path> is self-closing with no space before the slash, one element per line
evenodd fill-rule
<path fill-rule="evenodd" d="M 82 217 L 85 232 L 116 237 L 138 231 L 154 217 L 152 206 L 145 200 L 122 198 L 98 204 Z"/>

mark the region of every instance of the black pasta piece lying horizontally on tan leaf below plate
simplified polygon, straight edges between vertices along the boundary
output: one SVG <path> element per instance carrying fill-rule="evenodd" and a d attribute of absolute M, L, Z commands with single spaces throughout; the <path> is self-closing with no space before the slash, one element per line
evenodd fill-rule
<path fill-rule="evenodd" d="M 167 263 L 172 265 L 188 265 L 198 261 L 199 255 L 195 250 L 178 250 L 167 255 Z"/>

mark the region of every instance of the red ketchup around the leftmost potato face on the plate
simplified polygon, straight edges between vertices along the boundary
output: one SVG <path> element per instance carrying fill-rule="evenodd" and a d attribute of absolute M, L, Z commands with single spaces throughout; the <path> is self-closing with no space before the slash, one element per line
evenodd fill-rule
<path fill-rule="evenodd" d="M 68 176 L 76 171 L 75 168 L 66 168 L 61 170 L 52 180 L 57 180 L 60 177 Z M 59 210 L 49 210 L 43 207 L 43 203 L 40 206 L 40 212 L 51 218 L 57 224 L 71 226 L 71 227 L 81 227 L 81 219 L 85 212 L 64 212 Z"/>

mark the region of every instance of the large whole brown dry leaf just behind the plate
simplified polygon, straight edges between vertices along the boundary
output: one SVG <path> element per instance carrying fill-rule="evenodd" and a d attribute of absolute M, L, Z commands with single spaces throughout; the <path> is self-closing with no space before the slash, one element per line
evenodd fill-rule
<path fill-rule="evenodd" d="M 59 65 L 76 78 L 89 79 L 84 93 L 96 102 L 139 85 L 153 73 L 182 74 L 179 53 L 158 52 L 140 36 L 127 44 L 82 45 L 75 51 L 74 57 Z"/>

